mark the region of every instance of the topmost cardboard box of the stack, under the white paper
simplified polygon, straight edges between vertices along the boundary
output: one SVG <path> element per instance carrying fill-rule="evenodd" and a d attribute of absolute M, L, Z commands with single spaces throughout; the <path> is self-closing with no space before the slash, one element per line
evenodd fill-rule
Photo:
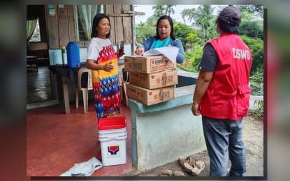
<path fill-rule="evenodd" d="M 149 74 L 176 68 L 166 56 L 124 56 L 125 71 Z"/>

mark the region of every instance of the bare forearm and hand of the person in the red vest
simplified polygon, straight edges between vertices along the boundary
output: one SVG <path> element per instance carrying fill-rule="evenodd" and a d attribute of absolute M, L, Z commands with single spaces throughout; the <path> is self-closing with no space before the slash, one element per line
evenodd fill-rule
<path fill-rule="evenodd" d="M 199 115 L 199 101 L 205 94 L 205 91 L 208 89 L 210 85 L 210 81 L 212 80 L 213 72 L 208 72 L 201 70 L 198 75 L 198 79 L 196 81 L 196 89 L 194 91 L 194 100 L 191 107 L 191 111 L 194 116 Z"/>

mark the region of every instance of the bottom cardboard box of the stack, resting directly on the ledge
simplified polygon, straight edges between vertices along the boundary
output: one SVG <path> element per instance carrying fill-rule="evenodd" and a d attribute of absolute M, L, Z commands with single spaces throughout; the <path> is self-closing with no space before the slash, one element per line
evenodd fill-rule
<path fill-rule="evenodd" d="M 174 86 L 147 89 L 135 84 L 126 85 L 126 96 L 147 106 L 174 100 Z"/>

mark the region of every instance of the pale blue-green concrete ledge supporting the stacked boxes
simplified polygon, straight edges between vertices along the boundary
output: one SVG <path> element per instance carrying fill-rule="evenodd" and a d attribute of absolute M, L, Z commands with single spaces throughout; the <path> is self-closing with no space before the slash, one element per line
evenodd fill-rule
<path fill-rule="evenodd" d="M 146 106 L 128 99 L 132 162 L 138 171 L 174 162 L 206 149 L 201 116 L 191 113 L 195 85 L 175 88 L 175 100 Z"/>

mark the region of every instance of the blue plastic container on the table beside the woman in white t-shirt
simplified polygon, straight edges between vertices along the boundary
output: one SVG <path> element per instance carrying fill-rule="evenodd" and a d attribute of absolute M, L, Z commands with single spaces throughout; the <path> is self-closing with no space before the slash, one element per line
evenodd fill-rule
<path fill-rule="evenodd" d="M 66 56 L 69 68 L 80 67 L 80 47 L 78 42 L 68 42 L 68 45 L 66 45 Z"/>

